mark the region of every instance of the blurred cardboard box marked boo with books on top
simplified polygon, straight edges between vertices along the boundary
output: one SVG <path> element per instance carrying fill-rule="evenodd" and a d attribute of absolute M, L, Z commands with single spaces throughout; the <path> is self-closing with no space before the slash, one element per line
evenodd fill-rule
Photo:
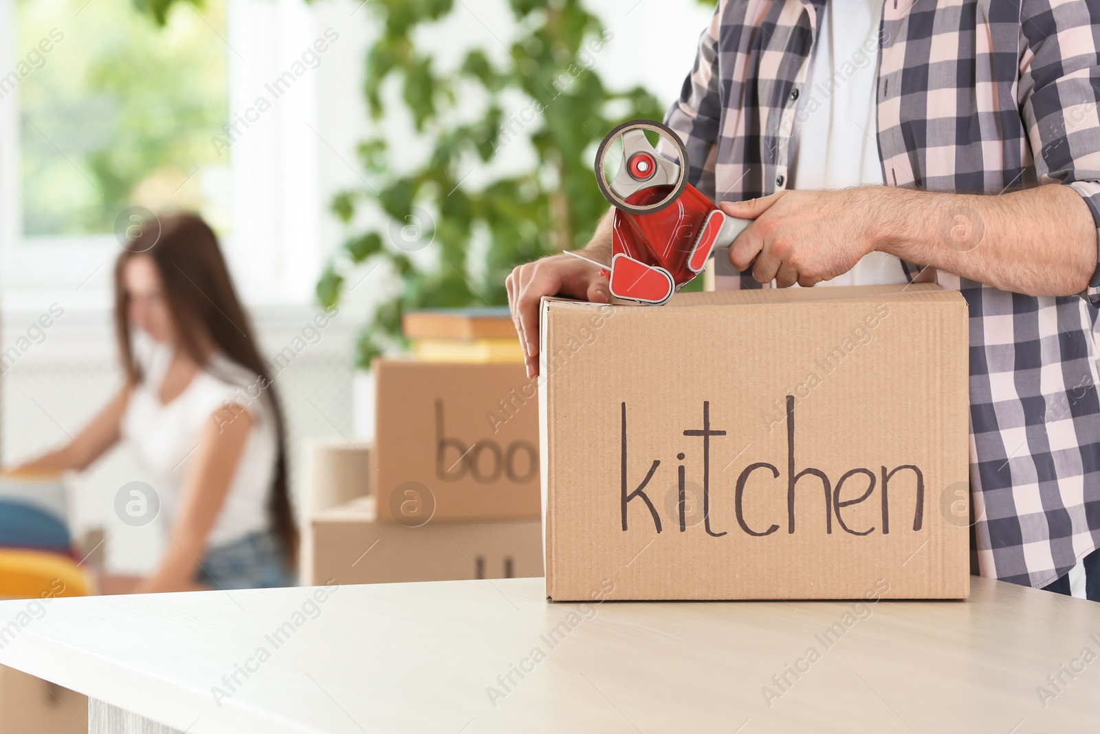
<path fill-rule="evenodd" d="M 521 364 L 376 360 L 378 517 L 539 516 L 538 399 Z"/>

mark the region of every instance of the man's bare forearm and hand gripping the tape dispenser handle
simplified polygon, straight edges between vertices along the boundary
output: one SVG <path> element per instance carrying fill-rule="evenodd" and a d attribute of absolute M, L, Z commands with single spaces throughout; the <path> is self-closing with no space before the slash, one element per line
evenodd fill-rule
<path fill-rule="evenodd" d="M 1072 296 L 1097 269 L 1097 226 L 1071 187 L 998 196 L 861 186 L 723 204 L 754 219 L 729 247 L 760 283 L 814 285 L 872 251 L 1028 296 Z M 755 261 L 755 264 L 754 264 Z"/>

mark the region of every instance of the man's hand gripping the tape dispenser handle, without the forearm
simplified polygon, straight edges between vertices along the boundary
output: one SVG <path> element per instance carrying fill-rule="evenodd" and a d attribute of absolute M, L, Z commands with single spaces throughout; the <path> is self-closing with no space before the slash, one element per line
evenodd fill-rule
<path fill-rule="evenodd" d="M 727 201 L 727 215 L 754 219 L 729 247 L 738 271 L 752 265 L 758 283 L 787 288 L 811 286 L 850 271 L 875 250 L 865 188 L 835 191 L 777 191 L 750 201 Z M 755 264 L 754 264 L 755 262 Z"/>

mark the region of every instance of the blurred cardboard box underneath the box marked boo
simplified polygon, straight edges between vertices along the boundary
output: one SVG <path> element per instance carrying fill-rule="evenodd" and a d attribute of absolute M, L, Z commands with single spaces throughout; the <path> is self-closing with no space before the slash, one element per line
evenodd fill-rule
<path fill-rule="evenodd" d="M 455 581 L 542 576 L 542 525 L 537 519 L 378 523 L 374 497 L 314 517 L 311 580 L 324 583 Z"/>

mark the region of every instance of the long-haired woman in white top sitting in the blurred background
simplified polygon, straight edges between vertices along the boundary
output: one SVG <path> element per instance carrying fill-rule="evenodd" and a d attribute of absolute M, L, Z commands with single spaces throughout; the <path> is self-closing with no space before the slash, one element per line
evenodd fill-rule
<path fill-rule="evenodd" d="M 160 227 L 114 267 L 125 385 L 67 446 L 23 468 L 80 470 L 120 440 L 134 449 L 168 543 L 133 592 L 292 585 L 298 533 L 271 375 L 213 231 L 190 213 Z"/>

